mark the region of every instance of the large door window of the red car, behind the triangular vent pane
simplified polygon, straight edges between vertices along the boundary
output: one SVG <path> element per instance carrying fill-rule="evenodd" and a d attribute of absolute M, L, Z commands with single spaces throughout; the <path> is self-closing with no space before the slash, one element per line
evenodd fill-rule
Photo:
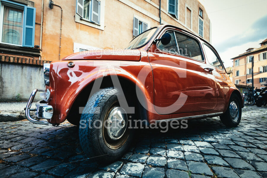
<path fill-rule="evenodd" d="M 180 55 L 203 61 L 200 46 L 196 39 L 178 32 L 175 32 L 175 36 Z"/>

